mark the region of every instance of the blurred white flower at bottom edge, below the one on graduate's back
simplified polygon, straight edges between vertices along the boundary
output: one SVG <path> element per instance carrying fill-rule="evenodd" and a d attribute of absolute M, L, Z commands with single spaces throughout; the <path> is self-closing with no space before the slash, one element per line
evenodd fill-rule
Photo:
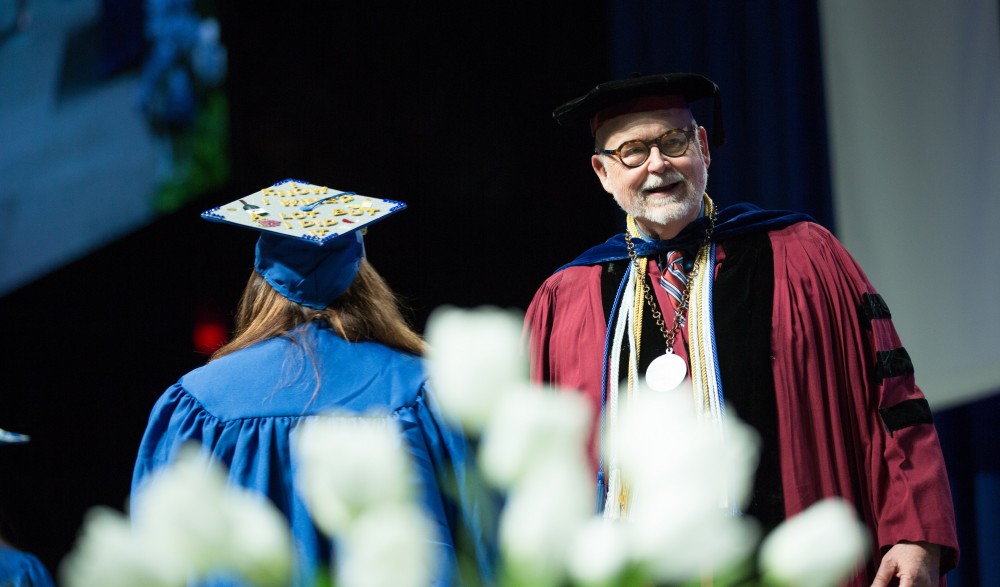
<path fill-rule="evenodd" d="M 337 572 L 344 587 L 425 587 L 442 561 L 434 526 L 415 504 L 366 510 L 343 535 Z"/>

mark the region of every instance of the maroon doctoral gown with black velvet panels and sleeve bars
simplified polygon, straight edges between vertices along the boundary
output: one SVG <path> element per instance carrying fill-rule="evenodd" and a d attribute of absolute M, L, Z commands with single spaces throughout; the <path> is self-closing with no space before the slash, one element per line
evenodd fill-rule
<path fill-rule="evenodd" d="M 713 317 L 723 394 L 762 438 L 748 514 L 770 529 L 842 496 L 873 538 L 872 559 L 851 585 L 870 585 L 881 555 L 904 540 L 941 545 L 943 575 L 958 561 L 948 477 L 930 409 L 882 298 L 813 222 L 716 235 Z M 658 275 L 654 259 L 647 287 Z M 562 268 L 539 288 L 525 321 L 532 378 L 582 392 L 597 418 L 608 315 L 627 263 L 591 257 Z M 668 296 L 653 291 L 669 322 Z M 640 357 L 641 369 L 664 346 L 651 315 L 643 325 L 650 328 L 641 349 L 650 354 Z M 686 329 L 682 337 L 675 352 L 686 358 Z"/>

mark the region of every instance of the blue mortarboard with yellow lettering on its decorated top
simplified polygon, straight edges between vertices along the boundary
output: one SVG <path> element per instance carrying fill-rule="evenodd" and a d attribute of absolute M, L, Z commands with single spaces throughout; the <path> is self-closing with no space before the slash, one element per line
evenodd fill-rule
<path fill-rule="evenodd" d="M 365 255 L 363 228 L 402 202 L 286 179 L 202 213 L 262 232 L 254 267 L 286 298 L 323 309 L 347 290 Z"/>

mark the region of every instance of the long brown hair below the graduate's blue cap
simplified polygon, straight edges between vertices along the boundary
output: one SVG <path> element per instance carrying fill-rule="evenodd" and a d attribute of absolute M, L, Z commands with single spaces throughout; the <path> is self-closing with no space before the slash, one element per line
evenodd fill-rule
<path fill-rule="evenodd" d="M 324 310 L 293 302 L 252 271 L 236 310 L 231 341 L 212 354 L 218 359 L 263 340 L 284 336 L 310 322 L 326 323 L 344 340 L 379 342 L 421 355 L 425 343 L 403 317 L 399 297 L 366 259 L 350 287 Z"/>

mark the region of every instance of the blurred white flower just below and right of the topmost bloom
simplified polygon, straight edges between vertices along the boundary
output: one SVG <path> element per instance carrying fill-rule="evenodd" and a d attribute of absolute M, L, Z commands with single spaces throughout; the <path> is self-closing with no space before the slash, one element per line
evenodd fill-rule
<path fill-rule="evenodd" d="M 509 489 L 539 463 L 567 461 L 583 467 L 591 413 L 579 393 L 546 391 L 529 383 L 508 387 L 483 432 L 479 466 L 484 476 Z"/>

